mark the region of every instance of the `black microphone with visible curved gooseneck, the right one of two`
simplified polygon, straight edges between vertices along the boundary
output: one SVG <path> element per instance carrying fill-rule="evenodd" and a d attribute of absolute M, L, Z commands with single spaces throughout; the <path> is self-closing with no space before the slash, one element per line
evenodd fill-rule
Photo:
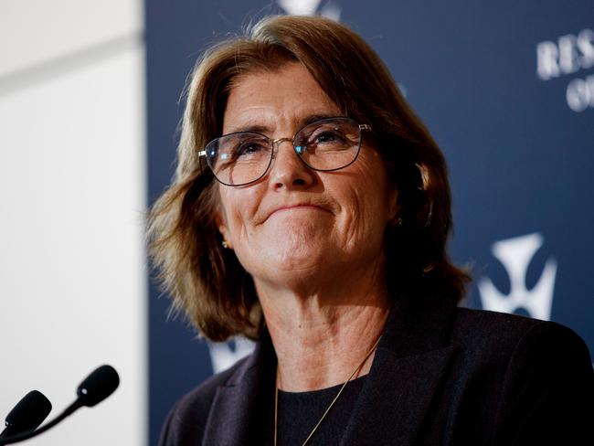
<path fill-rule="evenodd" d="M 77 388 L 78 398 L 60 413 L 58 417 L 52 419 L 48 424 L 37 430 L 28 430 L 27 432 L 11 437 L 0 438 L 0 446 L 36 437 L 40 433 L 56 426 L 62 419 L 71 415 L 75 410 L 83 406 L 92 408 L 97 405 L 103 399 L 109 397 L 119 385 L 120 377 L 118 376 L 118 372 L 115 371 L 115 368 L 112 366 L 100 366 L 96 368 L 80 383 L 79 388 Z"/>

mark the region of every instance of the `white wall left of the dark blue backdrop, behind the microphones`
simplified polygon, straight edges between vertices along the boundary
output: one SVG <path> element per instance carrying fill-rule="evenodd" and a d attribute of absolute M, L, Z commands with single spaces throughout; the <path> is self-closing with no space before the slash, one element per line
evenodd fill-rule
<path fill-rule="evenodd" d="M 61 16 L 66 27 L 77 15 L 94 14 L 97 23 L 69 31 L 79 33 L 80 45 L 106 37 L 107 31 L 94 33 L 100 22 L 107 30 L 117 28 L 117 33 L 137 33 L 142 22 L 136 1 L 3 2 L 2 69 L 5 35 L 12 33 L 12 42 L 22 43 L 21 27 L 11 25 L 5 15 L 18 3 L 38 6 L 36 13 L 48 22 Z M 79 3 L 88 7 L 84 14 Z M 54 11 L 60 6 L 67 8 L 61 15 Z M 133 19 L 132 11 L 137 13 Z M 35 20 L 43 25 L 41 18 Z M 11 30 L 6 30 L 6 23 Z M 42 40 L 37 39 L 41 46 Z M 72 48 L 67 48 L 67 40 L 62 39 L 59 50 L 48 43 L 51 48 L 45 54 L 68 56 Z M 16 58 L 9 60 L 12 67 L 45 58 L 27 53 L 35 46 L 33 40 L 23 44 L 22 58 L 15 51 Z M 80 409 L 24 444 L 144 445 L 143 42 L 137 38 L 112 54 L 87 58 L 42 81 L 12 90 L 2 87 L 0 419 L 33 388 L 52 401 L 51 419 L 75 398 L 83 377 L 96 366 L 111 364 L 122 379 L 111 398 L 95 408 Z"/>

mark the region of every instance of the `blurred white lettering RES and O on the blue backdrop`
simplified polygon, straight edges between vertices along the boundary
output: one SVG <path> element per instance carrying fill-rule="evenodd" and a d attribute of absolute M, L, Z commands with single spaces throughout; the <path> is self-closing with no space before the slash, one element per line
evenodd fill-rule
<path fill-rule="evenodd" d="M 582 29 L 577 35 L 567 34 L 557 42 L 536 45 L 536 74 L 551 80 L 594 67 L 594 31 Z M 594 75 L 570 80 L 566 90 L 567 106 L 574 112 L 594 108 Z"/>

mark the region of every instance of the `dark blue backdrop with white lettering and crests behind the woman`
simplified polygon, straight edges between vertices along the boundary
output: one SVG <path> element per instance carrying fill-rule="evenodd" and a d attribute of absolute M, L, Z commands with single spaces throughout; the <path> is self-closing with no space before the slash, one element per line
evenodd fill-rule
<path fill-rule="evenodd" d="M 281 2 L 285 12 L 298 3 Z M 475 278 L 465 304 L 546 316 L 592 350 L 594 3 L 314 6 L 339 15 L 387 61 L 446 154 L 451 254 Z M 173 175 L 178 99 L 201 50 L 275 12 L 283 9 L 255 0 L 146 1 L 149 203 Z M 175 399 L 212 373 L 207 344 L 167 321 L 167 306 L 151 286 L 151 444 Z"/>

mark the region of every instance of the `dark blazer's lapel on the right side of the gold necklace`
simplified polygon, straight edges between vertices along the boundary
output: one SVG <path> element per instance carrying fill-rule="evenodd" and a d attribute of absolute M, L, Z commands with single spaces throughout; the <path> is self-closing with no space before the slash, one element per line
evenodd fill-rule
<path fill-rule="evenodd" d="M 341 445 L 413 444 L 458 347 L 447 345 L 455 303 L 392 307 Z"/>

